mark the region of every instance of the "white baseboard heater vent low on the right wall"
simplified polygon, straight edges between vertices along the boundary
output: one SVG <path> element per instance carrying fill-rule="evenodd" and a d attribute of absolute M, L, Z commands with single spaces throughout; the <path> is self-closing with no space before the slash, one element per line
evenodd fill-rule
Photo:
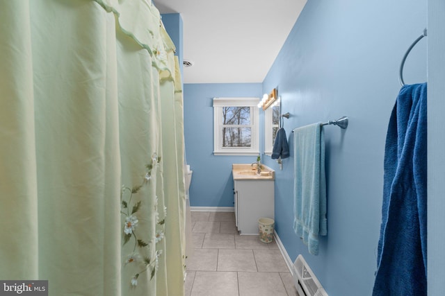
<path fill-rule="evenodd" d="M 293 263 L 293 281 L 300 296 L 327 296 L 325 289 L 301 254 Z"/>

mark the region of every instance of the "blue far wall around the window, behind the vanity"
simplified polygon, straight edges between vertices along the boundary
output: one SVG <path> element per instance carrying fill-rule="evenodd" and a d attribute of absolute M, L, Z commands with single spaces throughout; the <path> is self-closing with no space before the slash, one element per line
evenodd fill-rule
<path fill-rule="evenodd" d="M 257 159 L 213 155 L 213 98 L 261 96 L 261 83 L 184 85 L 186 158 L 193 171 L 191 207 L 233 207 L 232 164 Z"/>

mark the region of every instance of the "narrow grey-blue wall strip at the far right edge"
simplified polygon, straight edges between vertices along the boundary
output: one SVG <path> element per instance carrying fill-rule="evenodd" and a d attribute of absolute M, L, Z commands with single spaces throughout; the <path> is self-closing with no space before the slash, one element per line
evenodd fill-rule
<path fill-rule="evenodd" d="M 428 295 L 445 290 L 445 2 L 428 0 Z M 432 234 L 432 235 L 429 235 Z"/>

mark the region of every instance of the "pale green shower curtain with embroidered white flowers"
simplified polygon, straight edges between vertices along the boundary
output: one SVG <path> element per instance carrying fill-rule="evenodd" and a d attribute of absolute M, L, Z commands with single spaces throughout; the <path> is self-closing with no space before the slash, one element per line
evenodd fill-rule
<path fill-rule="evenodd" d="M 0 0 L 0 279 L 184 295 L 175 47 L 147 0 Z"/>

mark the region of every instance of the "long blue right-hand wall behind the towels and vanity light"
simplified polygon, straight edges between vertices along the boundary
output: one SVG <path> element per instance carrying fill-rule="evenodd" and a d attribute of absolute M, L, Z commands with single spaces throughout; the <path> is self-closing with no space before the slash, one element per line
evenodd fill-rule
<path fill-rule="evenodd" d="M 328 235 L 312 256 L 292 229 L 293 153 L 276 171 L 277 234 L 292 260 L 302 254 L 330 296 L 371 295 L 379 237 L 387 124 L 400 89 L 398 67 L 426 27 L 424 1 L 309 0 L 263 82 L 278 87 L 291 130 L 325 127 Z M 426 81 L 426 42 L 405 66 L 405 82 Z M 272 159 L 265 164 L 277 170 Z"/>

